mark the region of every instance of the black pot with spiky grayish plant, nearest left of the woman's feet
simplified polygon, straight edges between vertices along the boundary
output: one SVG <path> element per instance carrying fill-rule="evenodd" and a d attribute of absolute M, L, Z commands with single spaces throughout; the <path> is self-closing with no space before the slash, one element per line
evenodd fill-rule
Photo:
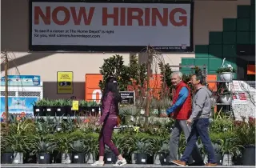
<path fill-rule="evenodd" d="M 70 143 L 73 153 L 73 163 L 85 163 L 86 145 L 82 139 L 75 140 Z"/>

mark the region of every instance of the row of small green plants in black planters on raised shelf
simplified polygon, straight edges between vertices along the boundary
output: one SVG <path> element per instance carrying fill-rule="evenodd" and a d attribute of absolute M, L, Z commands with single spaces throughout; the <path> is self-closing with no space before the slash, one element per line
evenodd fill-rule
<path fill-rule="evenodd" d="M 78 114 L 86 115 L 89 113 L 98 114 L 99 105 L 97 102 L 79 101 Z M 76 111 L 72 110 L 72 100 L 42 99 L 34 102 L 34 116 L 74 116 Z"/>

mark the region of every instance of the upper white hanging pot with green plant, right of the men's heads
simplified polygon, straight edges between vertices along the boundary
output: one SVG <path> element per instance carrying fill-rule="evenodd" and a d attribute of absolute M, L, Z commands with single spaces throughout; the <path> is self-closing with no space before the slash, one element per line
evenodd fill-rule
<path fill-rule="evenodd" d="M 233 79 L 233 73 L 235 73 L 235 70 L 232 66 L 222 66 L 216 70 L 217 74 L 219 74 L 219 78 L 222 81 L 230 82 Z"/>

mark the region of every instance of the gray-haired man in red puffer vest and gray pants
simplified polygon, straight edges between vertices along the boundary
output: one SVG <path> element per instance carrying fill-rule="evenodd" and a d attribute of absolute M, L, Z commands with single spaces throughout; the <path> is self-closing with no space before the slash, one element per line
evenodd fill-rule
<path fill-rule="evenodd" d="M 182 73 L 174 72 L 171 74 L 171 82 L 175 86 L 175 93 L 173 96 L 173 106 L 170 106 L 166 110 L 166 114 L 162 114 L 162 117 L 172 116 L 175 119 L 173 129 L 170 134 L 170 160 L 176 160 L 178 156 L 178 142 L 180 134 L 184 133 L 185 138 L 190 136 L 190 126 L 187 125 L 186 120 L 191 115 L 191 94 L 190 88 L 186 83 L 182 82 Z M 198 147 L 194 147 L 192 152 L 194 159 L 194 166 L 202 166 L 202 156 L 198 150 Z M 190 159 L 191 162 L 191 159 Z"/>

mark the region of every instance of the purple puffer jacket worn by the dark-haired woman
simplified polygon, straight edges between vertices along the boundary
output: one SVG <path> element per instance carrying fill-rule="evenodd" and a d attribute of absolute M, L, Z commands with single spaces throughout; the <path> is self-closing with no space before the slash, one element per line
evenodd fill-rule
<path fill-rule="evenodd" d="M 99 122 L 104 122 L 106 120 L 106 116 L 108 116 L 108 118 L 111 119 L 118 118 L 118 111 L 115 108 L 114 97 L 112 92 L 106 94 L 106 98 L 102 102 L 102 116 L 99 119 Z"/>

